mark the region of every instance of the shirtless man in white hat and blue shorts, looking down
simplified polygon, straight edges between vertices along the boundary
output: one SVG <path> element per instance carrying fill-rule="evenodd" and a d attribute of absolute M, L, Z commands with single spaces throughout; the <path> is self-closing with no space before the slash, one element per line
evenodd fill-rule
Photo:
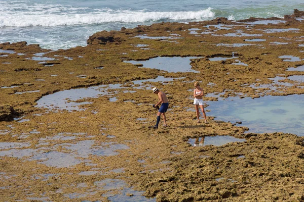
<path fill-rule="evenodd" d="M 167 96 L 166 96 L 166 94 L 164 92 L 160 91 L 157 87 L 154 87 L 152 90 L 153 90 L 153 92 L 155 94 L 158 95 L 159 100 L 160 100 L 153 107 L 157 108 L 160 104 L 162 104 L 161 107 L 160 107 L 160 109 L 159 109 L 159 112 L 157 113 L 157 122 L 156 122 L 156 125 L 153 126 L 153 128 L 154 129 L 158 129 L 158 124 L 159 124 L 159 122 L 161 120 L 161 115 L 164 118 L 164 125 L 163 126 L 167 127 L 168 125 L 167 125 L 167 122 L 166 122 L 166 115 L 165 115 L 165 112 L 167 112 L 167 109 L 169 107 L 169 102 L 168 102 Z"/>

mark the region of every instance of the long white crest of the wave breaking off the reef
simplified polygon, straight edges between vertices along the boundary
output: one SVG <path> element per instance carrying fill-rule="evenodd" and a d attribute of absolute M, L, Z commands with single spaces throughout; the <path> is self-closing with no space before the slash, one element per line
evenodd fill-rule
<path fill-rule="evenodd" d="M 185 12 L 146 12 L 110 9 L 89 13 L 63 12 L 58 13 L 58 8 L 50 8 L 55 13 L 46 14 L 45 11 L 22 12 L 0 16 L 0 27 L 26 27 L 26 26 L 64 26 L 99 23 L 136 23 L 165 20 L 206 20 L 214 17 L 211 8 L 200 11 Z M 62 10 L 61 10 L 62 11 Z"/>

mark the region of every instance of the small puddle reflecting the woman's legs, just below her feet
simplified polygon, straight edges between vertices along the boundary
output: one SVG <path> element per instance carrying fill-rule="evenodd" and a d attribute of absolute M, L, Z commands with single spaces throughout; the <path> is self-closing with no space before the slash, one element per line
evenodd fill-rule
<path fill-rule="evenodd" d="M 206 136 L 206 137 L 197 137 L 197 138 L 189 138 L 188 143 L 192 146 L 206 146 L 206 145 L 214 145 L 221 146 L 230 142 L 244 142 L 245 139 L 236 138 L 230 135 L 224 136 Z"/>

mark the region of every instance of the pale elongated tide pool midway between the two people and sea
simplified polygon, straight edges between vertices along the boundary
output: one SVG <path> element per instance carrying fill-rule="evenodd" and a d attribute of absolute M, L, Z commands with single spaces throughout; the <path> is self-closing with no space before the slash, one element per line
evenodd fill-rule
<path fill-rule="evenodd" d="M 199 71 L 191 69 L 190 59 L 198 59 L 199 57 L 157 57 L 146 61 L 124 61 L 132 64 L 142 64 L 144 68 L 155 68 L 168 72 L 195 72 Z M 141 67 L 139 67 L 141 68 Z"/>

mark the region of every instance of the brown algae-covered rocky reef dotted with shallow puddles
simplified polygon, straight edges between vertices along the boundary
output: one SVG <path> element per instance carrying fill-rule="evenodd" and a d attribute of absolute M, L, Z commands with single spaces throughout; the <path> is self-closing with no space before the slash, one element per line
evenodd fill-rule
<path fill-rule="evenodd" d="M 303 94 L 303 22 L 295 10 L 284 19 L 102 31 L 66 50 L 0 44 L 0 198 L 303 201 L 302 136 L 248 133 L 241 122 L 215 120 L 208 105 L 208 123 L 196 123 L 188 110 L 194 81 L 212 95 L 206 102 Z M 143 65 L 163 58 L 164 69 Z M 191 67 L 166 69 L 176 58 Z M 152 86 L 170 103 L 169 127 L 158 130 L 148 127 L 156 120 Z M 242 141 L 204 145 L 226 136 Z"/>

